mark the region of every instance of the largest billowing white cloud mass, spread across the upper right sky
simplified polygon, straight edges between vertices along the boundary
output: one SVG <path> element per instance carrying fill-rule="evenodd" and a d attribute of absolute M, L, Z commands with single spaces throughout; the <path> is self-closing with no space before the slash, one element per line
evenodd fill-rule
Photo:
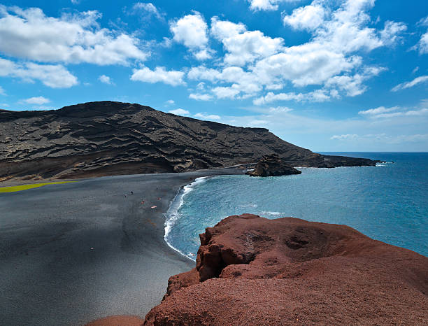
<path fill-rule="evenodd" d="M 286 46 L 283 38 L 271 38 L 262 31 L 248 31 L 242 23 L 213 17 L 210 32 L 223 45 L 223 68 L 193 67 L 187 77 L 210 81 L 215 97 L 227 99 L 254 97 L 262 90 L 283 90 L 290 84 L 320 87 L 312 92 L 268 92 L 255 99 L 255 104 L 328 101 L 363 94 L 366 80 L 385 68 L 365 66 L 361 52 L 399 42 L 406 24 L 387 21 L 381 30 L 369 27 L 371 19 L 366 12 L 374 0 L 347 0 L 336 8 L 331 6 L 334 3 L 314 0 L 283 16 L 285 24 L 311 33 L 310 41 L 294 46 Z"/>

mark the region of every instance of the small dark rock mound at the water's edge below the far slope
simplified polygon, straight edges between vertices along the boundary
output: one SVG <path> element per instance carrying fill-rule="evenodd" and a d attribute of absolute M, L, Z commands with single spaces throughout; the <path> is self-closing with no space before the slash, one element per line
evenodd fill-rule
<path fill-rule="evenodd" d="M 264 155 L 262 160 L 257 162 L 255 169 L 248 171 L 250 176 L 288 176 L 290 174 L 300 174 L 301 171 L 285 164 L 278 155 Z"/>

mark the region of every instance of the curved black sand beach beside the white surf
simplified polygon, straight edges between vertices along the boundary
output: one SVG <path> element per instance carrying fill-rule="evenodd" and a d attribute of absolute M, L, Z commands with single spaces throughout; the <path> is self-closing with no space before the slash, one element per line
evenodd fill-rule
<path fill-rule="evenodd" d="M 169 276 L 194 265 L 163 238 L 179 187 L 236 173 L 243 171 L 109 176 L 0 194 L 1 325 L 144 318 Z"/>

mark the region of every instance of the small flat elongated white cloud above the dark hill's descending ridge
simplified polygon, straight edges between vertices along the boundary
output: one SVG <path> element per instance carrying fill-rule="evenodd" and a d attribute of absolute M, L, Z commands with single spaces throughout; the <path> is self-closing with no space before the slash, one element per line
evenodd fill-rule
<path fill-rule="evenodd" d="M 155 70 L 150 70 L 143 66 L 141 69 L 134 69 L 131 80 L 138 80 L 145 83 L 165 83 L 172 86 L 185 85 L 183 71 L 166 71 L 163 66 L 157 66 Z"/>

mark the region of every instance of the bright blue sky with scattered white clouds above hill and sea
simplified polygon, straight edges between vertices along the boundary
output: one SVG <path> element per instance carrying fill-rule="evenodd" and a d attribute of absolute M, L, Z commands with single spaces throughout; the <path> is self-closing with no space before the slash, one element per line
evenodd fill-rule
<path fill-rule="evenodd" d="M 123 101 L 409 152 L 428 151 L 427 90 L 426 0 L 0 2 L 6 110 Z"/>

